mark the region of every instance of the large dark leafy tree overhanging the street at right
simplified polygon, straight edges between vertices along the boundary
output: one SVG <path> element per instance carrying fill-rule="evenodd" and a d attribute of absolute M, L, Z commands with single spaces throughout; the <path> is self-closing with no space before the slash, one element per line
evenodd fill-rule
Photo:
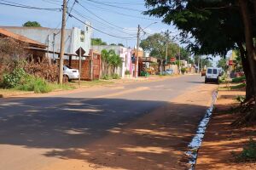
<path fill-rule="evenodd" d="M 250 0 L 146 0 L 144 14 L 173 23 L 195 54 L 225 55 L 238 49 L 247 79 L 246 101 L 256 97 L 256 2 Z M 236 28 L 236 29 L 234 29 Z M 193 38 L 193 41 L 189 39 Z M 244 46 L 245 44 L 245 46 Z M 256 119 L 256 108 L 252 113 Z"/>

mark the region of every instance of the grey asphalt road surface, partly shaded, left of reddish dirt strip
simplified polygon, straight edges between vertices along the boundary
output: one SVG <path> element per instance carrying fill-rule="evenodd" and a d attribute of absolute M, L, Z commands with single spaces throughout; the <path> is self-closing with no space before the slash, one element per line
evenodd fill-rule
<path fill-rule="evenodd" d="M 184 76 L 159 82 L 42 98 L 0 99 L 0 170 L 38 169 L 58 159 L 58 150 L 100 139 L 166 103 L 203 78 Z"/>

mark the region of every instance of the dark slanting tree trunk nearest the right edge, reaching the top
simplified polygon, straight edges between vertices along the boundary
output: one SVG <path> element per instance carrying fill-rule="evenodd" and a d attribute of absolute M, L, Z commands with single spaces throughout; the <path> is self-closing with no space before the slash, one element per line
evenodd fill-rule
<path fill-rule="evenodd" d="M 250 71 L 253 77 L 253 89 L 256 89 L 256 77 L 255 77 L 255 59 L 256 59 L 256 54 L 255 54 L 255 49 L 253 46 L 253 26 L 252 26 L 252 21 L 251 17 L 248 11 L 248 6 L 247 0 L 238 0 L 239 6 L 241 9 L 241 16 L 244 24 L 244 33 L 245 33 L 245 38 L 246 38 L 246 48 L 247 48 L 247 56 L 248 56 L 248 62 L 249 62 L 249 67 Z M 253 96 L 255 97 L 255 90 L 253 90 Z"/>

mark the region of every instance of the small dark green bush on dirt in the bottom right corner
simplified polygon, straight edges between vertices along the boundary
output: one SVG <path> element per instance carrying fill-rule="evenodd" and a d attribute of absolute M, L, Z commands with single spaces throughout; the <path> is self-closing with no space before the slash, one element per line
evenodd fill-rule
<path fill-rule="evenodd" d="M 256 142 L 250 139 L 236 158 L 238 161 L 256 161 Z"/>

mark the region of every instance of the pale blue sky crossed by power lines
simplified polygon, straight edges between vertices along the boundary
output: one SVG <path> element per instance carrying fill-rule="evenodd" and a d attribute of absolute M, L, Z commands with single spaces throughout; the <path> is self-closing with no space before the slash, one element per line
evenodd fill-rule
<path fill-rule="evenodd" d="M 143 15 L 147 10 L 143 0 L 67 0 L 69 11 L 79 20 L 90 21 L 93 37 L 100 37 L 104 42 L 123 43 L 126 47 L 134 47 L 137 43 L 137 26 L 140 25 L 146 34 L 170 30 L 171 37 L 179 34 L 175 26 L 166 25 L 161 19 Z M 39 8 L 61 8 L 62 0 L 0 0 L 0 3 L 20 3 Z M 82 7 L 83 6 L 83 7 Z M 22 26 L 26 21 L 38 21 L 41 26 L 61 27 L 61 11 L 47 11 L 27 8 L 15 8 L 0 4 L 0 26 Z M 67 28 L 83 27 L 84 24 L 69 17 Z M 102 32 L 104 33 L 102 33 Z M 107 35 L 110 34 L 111 36 Z M 178 42 L 178 41 L 177 41 Z M 185 46 L 184 44 L 181 44 Z"/>

